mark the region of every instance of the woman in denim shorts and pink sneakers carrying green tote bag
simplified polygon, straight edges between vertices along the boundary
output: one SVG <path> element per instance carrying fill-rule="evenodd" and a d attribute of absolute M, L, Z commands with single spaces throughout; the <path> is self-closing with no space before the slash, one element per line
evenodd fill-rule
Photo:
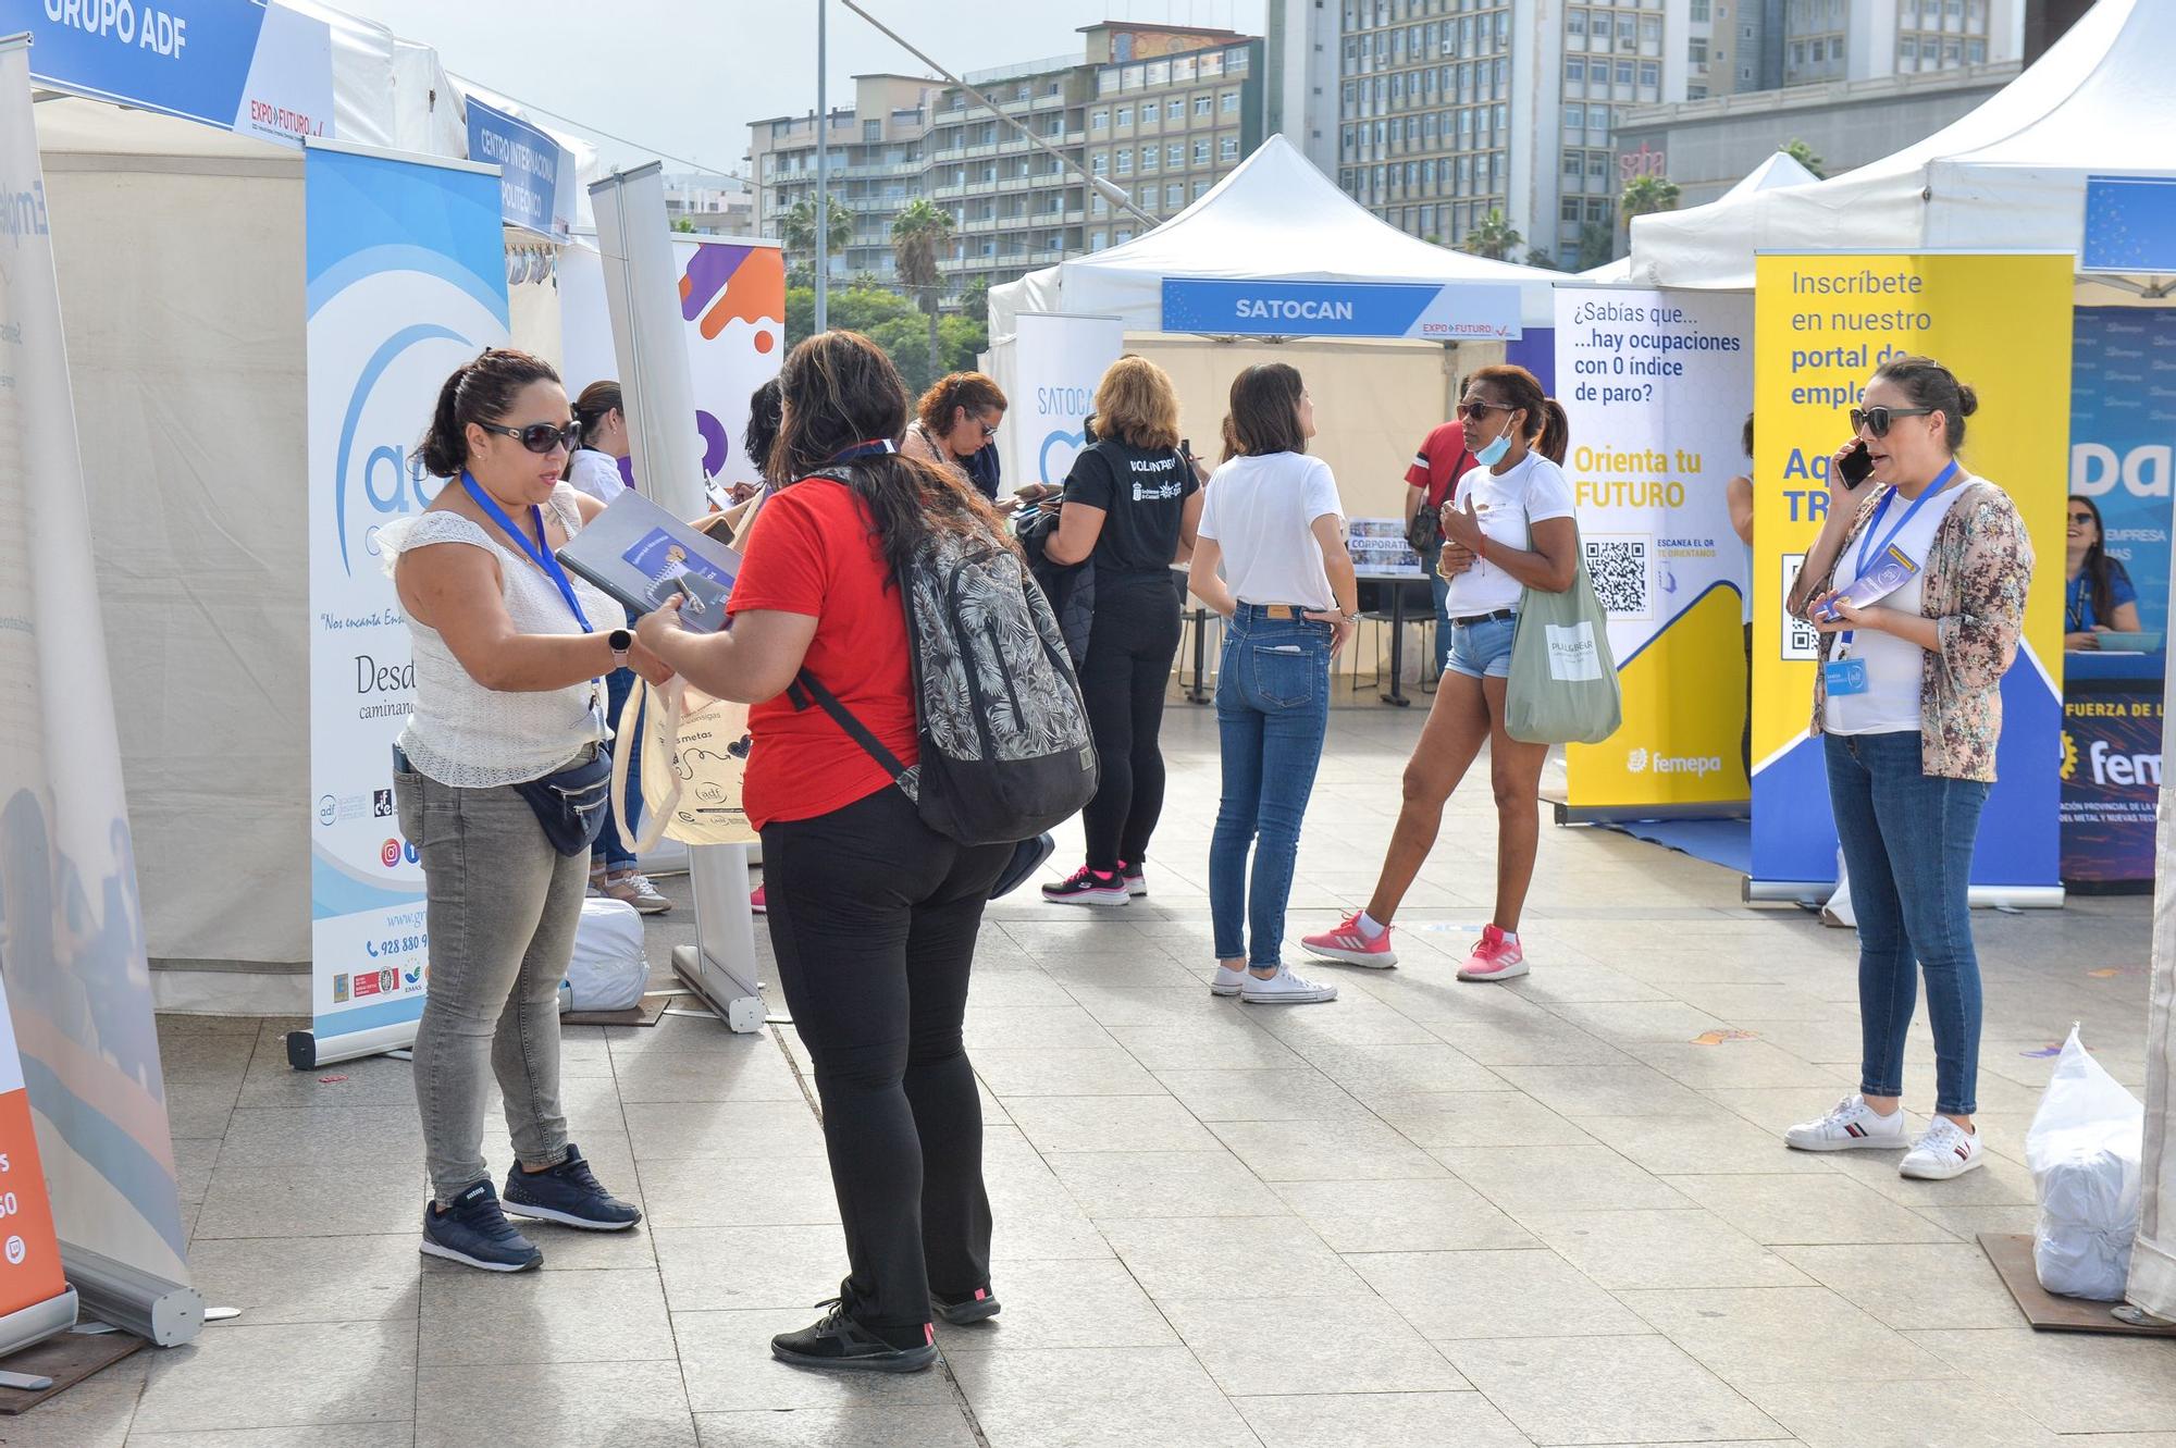
<path fill-rule="evenodd" d="M 1443 828 L 1443 804 L 1467 776 L 1482 746 L 1497 802 L 1495 915 L 1458 970 L 1460 981 L 1510 981 L 1525 974 L 1519 913 L 1534 881 L 1541 844 L 1541 765 L 1549 746 L 1504 731 L 1510 644 L 1525 589 L 1562 594 L 1578 576 L 1580 535 L 1565 480 L 1571 426 L 1556 398 L 1525 367 L 1482 367 L 1467 378 L 1458 404 L 1467 448 L 1480 467 L 1458 480 L 1458 502 L 1443 509 L 1449 544 L 1438 570 L 1451 581 L 1445 611 L 1451 650 L 1443 659 L 1436 707 L 1406 763 L 1406 807 L 1390 835 L 1375 896 L 1334 931 L 1306 937 L 1327 961 L 1397 965 L 1390 915 L 1412 889 Z"/>

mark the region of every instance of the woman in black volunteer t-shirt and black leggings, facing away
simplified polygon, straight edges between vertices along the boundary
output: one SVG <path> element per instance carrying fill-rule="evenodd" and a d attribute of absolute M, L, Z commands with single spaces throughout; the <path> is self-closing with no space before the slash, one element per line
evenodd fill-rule
<path fill-rule="evenodd" d="M 1179 652 L 1171 565 L 1192 552 L 1201 474 L 1179 452 L 1179 396 L 1145 357 L 1121 357 L 1095 391 L 1095 441 L 1066 476 L 1051 563 L 1095 559 L 1095 624 L 1081 663 L 1101 787 L 1081 811 L 1088 863 L 1044 885 L 1060 904 L 1127 904 L 1149 894 L 1142 859 L 1164 809 L 1164 685 Z"/>

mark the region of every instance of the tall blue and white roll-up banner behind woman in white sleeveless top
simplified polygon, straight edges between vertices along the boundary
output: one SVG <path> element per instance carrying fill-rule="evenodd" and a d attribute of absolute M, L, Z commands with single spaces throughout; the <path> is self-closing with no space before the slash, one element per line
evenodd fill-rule
<path fill-rule="evenodd" d="M 507 280 L 492 167 L 311 143 L 302 176 L 313 1020 L 287 1054 L 309 1070 L 409 1046 L 422 1018 L 422 865 L 392 781 L 416 661 L 379 528 L 437 496 L 409 452 L 446 376 L 507 344 Z"/>

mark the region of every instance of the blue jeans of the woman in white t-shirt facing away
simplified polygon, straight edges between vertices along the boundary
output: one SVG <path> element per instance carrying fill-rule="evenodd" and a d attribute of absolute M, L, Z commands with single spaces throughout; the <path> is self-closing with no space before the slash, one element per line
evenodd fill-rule
<path fill-rule="evenodd" d="M 1210 920 L 1219 961 L 1245 954 L 1256 970 L 1282 961 L 1299 820 L 1308 813 L 1327 728 L 1330 626 L 1310 624 L 1295 609 L 1240 604 L 1216 672 L 1223 802 L 1210 841 Z M 1242 922 L 1251 950 L 1240 944 Z"/>

